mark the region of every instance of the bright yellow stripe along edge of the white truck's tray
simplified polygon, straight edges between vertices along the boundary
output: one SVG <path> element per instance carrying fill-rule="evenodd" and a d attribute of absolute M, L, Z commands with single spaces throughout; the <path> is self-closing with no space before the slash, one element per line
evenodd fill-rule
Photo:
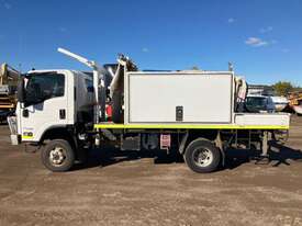
<path fill-rule="evenodd" d="M 94 124 L 94 128 L 289 129 L 286 125 Z"/>

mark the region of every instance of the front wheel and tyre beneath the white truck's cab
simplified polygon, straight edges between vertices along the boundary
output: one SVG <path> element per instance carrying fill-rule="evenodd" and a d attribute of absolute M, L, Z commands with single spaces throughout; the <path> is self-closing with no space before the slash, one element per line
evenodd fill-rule
<path fill-rule="evenodd" d="M 75 162 L 75 152 L 65 139 L 51 140 L 41 152 L 43 165 L 53 172 L 69 170 Z"/>

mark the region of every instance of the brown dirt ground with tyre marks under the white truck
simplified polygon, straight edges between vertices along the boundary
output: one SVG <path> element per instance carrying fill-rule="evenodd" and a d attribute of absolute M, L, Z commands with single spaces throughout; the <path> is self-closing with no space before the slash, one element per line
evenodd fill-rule
<path fill-rule="evenodd" d="M 230 154 L 226 169 L 198 174 L 174 157 L 98 150 L 65 173 L 11 146 L 0 126 L 2 225 L 302 225 L 302 117 L 268 165 Z"/>

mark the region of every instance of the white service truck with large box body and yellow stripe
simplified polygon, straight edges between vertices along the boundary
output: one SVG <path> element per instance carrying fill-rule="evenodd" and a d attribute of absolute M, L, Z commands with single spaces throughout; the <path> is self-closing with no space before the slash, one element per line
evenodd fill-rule
<path fill-rule="evenodd" d="M 69 170 L 87 151 L 111 144 L 121 150 L 177 149 L 195 172 L 224 163 L 228 147 L 268 144 L 287 132 L 287 113 L 245 113 L 244 80 L 231 71 L 139 71 L 128 58 L 98 66 L 65 49 L 59 52 L 92 68 L 33 70 L 18 88 L 16 125 L 11 137 L 42 146 L 52 171 Z M 112 113 L 111 113 L 112 110 Z"/>

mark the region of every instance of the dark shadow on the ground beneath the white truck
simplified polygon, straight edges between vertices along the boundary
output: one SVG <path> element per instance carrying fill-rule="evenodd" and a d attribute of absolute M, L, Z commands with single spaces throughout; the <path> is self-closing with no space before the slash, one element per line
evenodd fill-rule
<path fill-rule="evenodd" d="M 273 144 L 269 150 L 269 158 L 265 161 L 259 160 L 261 151 L 255 149 L 227 149 L 225 157 L 225 165 L 220 170 L 235 169 L 247 162 L 255 162 L 259 165 L 271 165 L 278 167 L 280 165 L 290 166 L 289 160 L 302 161 L 302 151 L 293 149 L 288 146 Z M 86 163 L 76 165 L 74 170 L 82 170 L 96 167 L 108 167 L 124 161 L 135 161 L 143 158 L 154 159 L 154 163 L 175 163 L 183 162 L 183 158 L 176 149 L 169 154 L 163 150 L 119 150 L 114 148 L 92 149 L 89 152 Z"/>

